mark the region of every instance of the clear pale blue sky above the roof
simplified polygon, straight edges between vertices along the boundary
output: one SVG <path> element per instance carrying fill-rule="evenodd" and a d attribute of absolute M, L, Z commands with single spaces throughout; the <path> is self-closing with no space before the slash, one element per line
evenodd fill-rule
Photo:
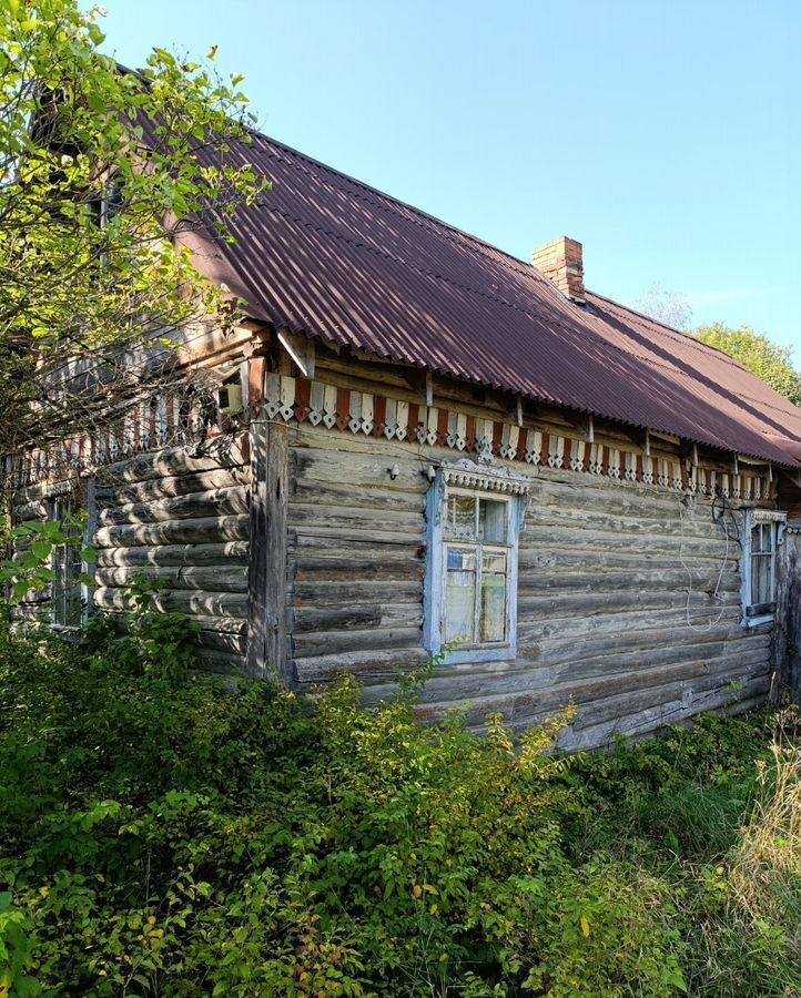
<path fill-rule="evenodd" d="M 801 363 L 799 0 L 107 0 L 107 48 L 246 74 L 260 126 L 588 287 L 653 282 Z"/>

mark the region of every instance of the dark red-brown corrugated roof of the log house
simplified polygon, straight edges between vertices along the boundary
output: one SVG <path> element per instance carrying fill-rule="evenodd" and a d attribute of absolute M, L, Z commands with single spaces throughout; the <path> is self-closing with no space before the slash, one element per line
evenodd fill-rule
<path fill-rule="evenodd" d="M 801 410 L 724 354 L 524 263 L 264 135 L 273 183 L 210 246 L 257 319 L 467 381 L 801 466 Z"/>

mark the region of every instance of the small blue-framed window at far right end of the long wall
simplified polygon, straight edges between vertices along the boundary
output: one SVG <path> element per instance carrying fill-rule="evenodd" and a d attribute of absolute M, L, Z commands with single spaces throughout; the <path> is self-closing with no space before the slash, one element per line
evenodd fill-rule
<path fill-rule="evenodd" d="M 742 624 L 756 628 L 775 615 L 775 554 L 785 513 L 746 511 L 742 544 Z"/>

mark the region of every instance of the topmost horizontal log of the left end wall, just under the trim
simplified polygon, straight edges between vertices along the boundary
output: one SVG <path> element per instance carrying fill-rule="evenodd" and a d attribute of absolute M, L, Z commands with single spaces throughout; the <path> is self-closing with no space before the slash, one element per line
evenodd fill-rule
<path fill-rule="evenodd" d="M 203 445 L 204 452 L 194 447 L 165 447 L 148 454 L 114 461 L 98 469 L 98 486 L 107 489 L 119 482 L 139 482 L 153 478 L 172 478 L 178 475 L 196 475 L 247 465 L 247 434 L 236 437 L 214 437 Z"/>

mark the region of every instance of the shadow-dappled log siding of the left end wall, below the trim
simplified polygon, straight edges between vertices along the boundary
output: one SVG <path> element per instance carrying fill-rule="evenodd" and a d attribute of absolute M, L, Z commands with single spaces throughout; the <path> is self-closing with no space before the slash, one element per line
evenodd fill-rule
<path fill-rule="evenodd" d="M 99 470 L 94 602 L 121 610 L 134 573 L 162 580 L 156 605 L 189 613 L 204 663 L 226 670 L 246 654 L 251 476 L 246 437 L 221 442 L 205 455 L 172 447 Z"/>

